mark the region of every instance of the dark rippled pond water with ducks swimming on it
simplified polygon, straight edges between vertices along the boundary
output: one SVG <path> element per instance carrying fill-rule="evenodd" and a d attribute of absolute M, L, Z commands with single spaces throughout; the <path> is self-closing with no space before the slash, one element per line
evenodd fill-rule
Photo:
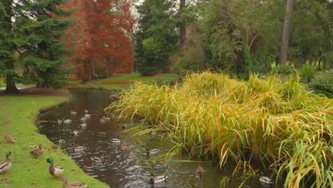
<path fill-rule="evenodd" d="M 231 177 L 231 170 L 218 169 L 213 162 L 188 161 L 186 157 L 171 158 L 169 160 L 154 160 L 159 155 L 147 157 L 146 148 L 158 148 L 159 153 L 166 153 L 172 145 L 167 140 L 161 140 L 160 135 L 140 135 L 133 137 L 133 132 L 125 131 L 130 125 L 125 120 L 110 120 L 101 123 L 100 118 L 105 116 L 103 109 L 115 98 L 110 98 L 110 91 L 101 90 L 71 90 L 73 98 L 64 105 L 41 114 L 38 126 L 41 134 L 58 144 L 65 140 L 62 149 L 75 160 L 75 162 L 89 174 L 110 187 L 220 187 L 223 177 Z M 81 126 L 80 117 L 84 110 L 88 110 L 91 118 L 85 127 Z M 71 115 L 70 110 L 77 112 Z M 68 125 L 58 125 L 57 120 L 70 119 Z M 126 129 L 122 125 L 127 124 Z M 72 135 L 78 130 L 78 135 Z M 110 139 L 122 137 L 127 149 L 121 150 L 121 144 L 111 143 Z M 72 143 L 72 144 L 71 144 Z M 75 152 L 76 147 L 83 146 L 85 150 Z M 92 157 L 105 155 L 105 162 L 97 164 Z M 206 173 L 203 176 L 196 174 L 196 169 L 203 167 Z M 155 175 L 167 175 L 167 181 L 159 184 L 149 183 L 149 172 Z M 228 187 L 239 187 L 241 182 L 233 182 Z M 257 179 L 245 182 L 243 187 L 265 187 Z"/>

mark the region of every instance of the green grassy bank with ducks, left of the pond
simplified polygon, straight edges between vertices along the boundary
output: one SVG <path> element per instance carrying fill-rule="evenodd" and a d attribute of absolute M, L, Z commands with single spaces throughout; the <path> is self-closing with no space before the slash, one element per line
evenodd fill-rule
<path fill-rule="evenodd" d="M 0 174 L 0 187 L 62 187 L 62 182 L 53 182 L 48 172 L 46 158 L 52 157 L 55 164 L 65 168 L 63 173 L 68 181 L 85 182 L 89 187 L 108 187 L 97 179 L 85 174 L 73 160 L 60 149 L 51 149 L 53 143 L 44 135 L 38 134 L 34 120 L 43 108 L 67 100 L 60 96 L 28 95 L 0 96 L 0 132 L 8 132 L 16 138 L 14 144 L 0 139 L 0 161 L 6 159 L 6 152 L 11 152 L 12 166 L 6 174 Z M 43 145 L 44 154 L 35 159 L 29 152 Z"/>

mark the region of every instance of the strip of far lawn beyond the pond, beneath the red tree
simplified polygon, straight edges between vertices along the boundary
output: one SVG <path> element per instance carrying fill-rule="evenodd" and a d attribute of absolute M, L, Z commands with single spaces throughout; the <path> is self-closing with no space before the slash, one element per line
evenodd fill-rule
<path fill-rule="evenodd" d="M 81 84 L 80 80 L 72 80 L 65 88 L 73 89 L 97 89 L 97 90 L 124 90 L 130 87 L 134 81 L 145 83 L 170 83 L 176 81 L 174 74 L 158 74 L 152 76 L 140 76 L 139 74 L 115 75 L 110 78 L 100 79 L 88 84 Z"/>

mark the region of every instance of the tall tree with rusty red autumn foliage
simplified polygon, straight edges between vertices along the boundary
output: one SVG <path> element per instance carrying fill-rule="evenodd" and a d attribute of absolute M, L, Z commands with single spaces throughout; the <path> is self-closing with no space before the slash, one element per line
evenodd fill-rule
<path fill-rule="evenodd" d="M 68 66 L 76 64 L 83 82 L 89 82 L 96 69 L 106 75 L 131 73 L 134 18 L 128 0 L 70 0 L 63 9 L 72 9 L 75 24 L 64 36 L 65 48 L 74 53 L 66 58 Z M 74 63 L 75 62 L 75 63 Z"/>

